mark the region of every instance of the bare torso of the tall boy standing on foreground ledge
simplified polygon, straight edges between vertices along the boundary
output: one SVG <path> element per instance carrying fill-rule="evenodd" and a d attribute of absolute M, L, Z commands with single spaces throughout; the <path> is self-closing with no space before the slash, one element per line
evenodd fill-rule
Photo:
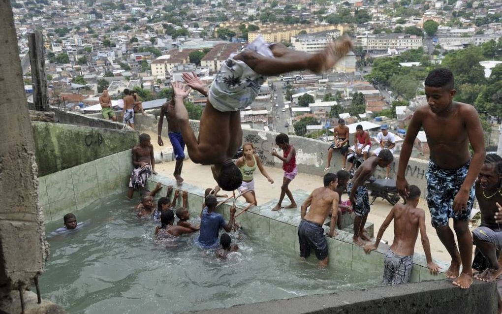
<path fill-rule="evenodd" d="M 415 112 L 427 136 L 431 160 L 439 167 L 458 169 L 471 158 L 467 120 L 472 118 L 472 111 L 475 109 L 470 104 L 453 102 L 445 116 L 436 115 L 429 106 Z"/>

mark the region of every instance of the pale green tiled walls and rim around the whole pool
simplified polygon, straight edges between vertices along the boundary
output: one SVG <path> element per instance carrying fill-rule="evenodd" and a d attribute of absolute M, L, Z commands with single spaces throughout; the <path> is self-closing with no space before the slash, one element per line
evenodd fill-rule
<path fill-rule="evenodd" d="M 46 221 L 59 221 L 62 224 L 62 218 L 65 214 L 77 211 L 99 198 L 115 193 L 124 193 L 125 196 L 133 170 L 131 156 L 132 150 L 126 150 L 40 177 L 40 204 L 43 207 Z M 174 179 L 155 175 L 151 176 L 147 182 L 149 189 L 153 189 L 157 182 L 163 185 L 157 197 L 166 194 L 167 186 L 176 186 Z M 192 217 L 198 217 L 204 202 L 204 191 L 200 187 L 188 183 L 184 183 L 182 189 L 188 192 L 187 207 L 189 212 Z M 308 197 L 306 191 L 297 190 L 294 193 L 298 204 L 301 204 Z M 292 255 L 298 255 L 300 252 L 298 244 L 298 225 L 301 221 L 300 208 L 272 212 L 271 208 L 276 202 L 277 200 L 272 200 L 260 206 L 253 206 L 238 216 L 236 221 L 241 225 L 242 231 L 246 235 L 268 239 L 275 245 L 279 245 L 282 250 L 290 252 Z M 227 221 L 230 217 L 231 203 L 232 200 L 229 200 L 217 208 L 217 212 L 222 214 Z M 181 205 L 180 195 L 177 206 Z M 237 213 L 239 213 L 247 204 L 240 197 L 237 199 L 236 205 Z M 326 232 L 329 231 L 329 227 L 324 226 L 324 228 Z M 338 235 L 334 238 L 326 237 L 329 265 L 336 266 L 338 269 L 343 268 L 373 275 L 382 273 L 385 252 L 389 246 L 382 243 L 378 250 L 367 255 L 361 247 L 352 244 L 350 226 L 347 228 L 337 230 Z M 367 223 L 366 228 L 370 234 L 373 233 L 372 224 Z M 311 259 L 315 259 L 315 256 L 312 256 Z M 442 266 L 443 270 L 446 269 L 447 265 L 444 263 L 438 262 L 438 264 Z M 412 282 L 444 279 L 442 274 L 439 276 L 430 275 L 425 256 L 418 253 L 414 256 L 411 277 Z"/>

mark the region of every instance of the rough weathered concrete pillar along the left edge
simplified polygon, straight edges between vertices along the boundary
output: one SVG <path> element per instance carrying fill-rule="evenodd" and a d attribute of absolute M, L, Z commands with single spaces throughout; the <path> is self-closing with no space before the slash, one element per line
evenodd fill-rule
<path fill-rule="evenodd" d="M 8 0 L 0 2 L 0 34 L 0 301 L 5 302 L 12 290 L 34 284 L 49 245 L 42 208 L 37 204 L 38 170 Z"/>

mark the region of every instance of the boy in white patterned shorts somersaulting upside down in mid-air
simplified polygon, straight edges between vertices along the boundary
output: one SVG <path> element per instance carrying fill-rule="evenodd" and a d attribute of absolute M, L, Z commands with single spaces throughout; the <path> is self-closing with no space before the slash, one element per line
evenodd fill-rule
<path fill-rule="evenodd" d="M 195 163 L 214 165 L 214 177 L 223 190 L 238 188 L 242 174 L 232 158 L 242 144 L 239 110 L 253 102 L 267 76 L 302 69 L 322 72 L 332 68 L 351 47 L 351 41 L 344 38 L 331 42 L 321 52 L 308 54 L 288 49 L 283 44 L 267 44 L 259 37 L 222 63 L 209 89 L 196 75 L 184 73 L 183 78 L 189 87 L 208 96 L 198 138 L 190 126 L 183 103 L 189 89 L 180 82 L 171 82 L 175 106 L 169 114 L 179 122 L 190 159 Z"/>

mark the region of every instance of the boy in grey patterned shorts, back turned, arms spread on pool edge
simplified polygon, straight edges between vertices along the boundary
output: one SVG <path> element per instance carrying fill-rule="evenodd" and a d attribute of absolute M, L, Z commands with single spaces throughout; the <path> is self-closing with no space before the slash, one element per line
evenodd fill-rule
<path fill-rule="evenodd" d="M 429 271 L 434 275 L 440 271 L 439 266 L 432 261 L 431 246 L 425 230 L 425 212 L 417 207 L 420 194 L 418 186 L 411 185 L 406 204 L 397 203 L 392 207 L 376 235 L 375 244 L 364 247 L 364 252 L 367 254 L 378 249 L 385 230 L 394 220 L 394 242 L 385 254 L 384 261 L 383 284 L 385 285 L 403 284 L 410 281 L 415 242 L 417 242 L 419 230 Z"/>

